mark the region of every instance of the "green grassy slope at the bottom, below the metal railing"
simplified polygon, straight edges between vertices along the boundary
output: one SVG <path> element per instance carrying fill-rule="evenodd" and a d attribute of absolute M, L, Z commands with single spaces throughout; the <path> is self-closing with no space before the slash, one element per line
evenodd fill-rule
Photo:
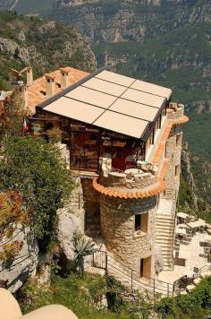
<path fill-rule="evenodd" d="M 117 284 L 114 291 L 119 290 Z M 81 278 L 72 272 L 67 278 L 53 275 L 50 287 L 29 282 L 21 289 L 19 301 L 23 314 L 40 306 L 59 304 L 71 309 L 80 319 L 139 318 L 134 314 L 129 303 L 122 302 L 120 305 L 120 299 L 118 299 L 118 307 L 113 308 L 113 311 L 109 311 L 105 306 L 100 306 L 99 301 L 106 291 L 105 278 L 89 274 Z M 148 316 L 143 318 L 147 319 Z"/>

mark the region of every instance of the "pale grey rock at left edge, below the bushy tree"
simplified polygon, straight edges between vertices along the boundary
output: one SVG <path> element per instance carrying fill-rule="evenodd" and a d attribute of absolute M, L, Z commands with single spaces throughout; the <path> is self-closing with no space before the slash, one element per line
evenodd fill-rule
<path fill-rule="evenodd" d="M 28 227 L 23 232 L 20 225 L 13 233 L 13 239 L 9 242 L 14 240 L 23 243 L 20 253 L 15 256 L 13 263 L 9 267 L 4 266 L 2 261 L 0 262 L 0 280 L 8 280 L 7 288 L 12 292 L 21 288 L 23 281 L 36 274 L 38 265 L 38 244 L 33 230 Z M 3 238 L 0 246 L 5 242 L 6 238 Z"/>

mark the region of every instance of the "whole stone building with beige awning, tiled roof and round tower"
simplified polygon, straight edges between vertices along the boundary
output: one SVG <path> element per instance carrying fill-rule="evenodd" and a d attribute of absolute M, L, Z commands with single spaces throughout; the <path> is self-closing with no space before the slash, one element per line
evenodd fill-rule
<path fill-rule="evenodd" d="M 183 105 L 171 101 L 170 89 L 106 70 L 60 72 L 57 84 L 52 74 L 42 79 L 39 99 L 41 80 L 30 83 L 30 133 L 62 130 L 72 174 L 80 175 L 85 233 L 103 238 L 140 277 L 155 278 L 159 254 L 173 269 Z M 79 77 L 70 85 L 72 73 Z"/>

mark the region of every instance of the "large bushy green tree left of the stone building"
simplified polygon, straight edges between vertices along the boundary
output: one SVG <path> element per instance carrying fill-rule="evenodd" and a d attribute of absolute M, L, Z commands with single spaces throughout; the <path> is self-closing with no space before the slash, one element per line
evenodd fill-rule
<path fill-rule="evenodd" d="M 4 140 L 0 161 L 0 190 L 18 190 L 27 208 L 32 208 L 40 248 L 53 235 L 56 211 L 72 193 L 72 178 L 59 149 L 52 142 L 31 136 Z"/>

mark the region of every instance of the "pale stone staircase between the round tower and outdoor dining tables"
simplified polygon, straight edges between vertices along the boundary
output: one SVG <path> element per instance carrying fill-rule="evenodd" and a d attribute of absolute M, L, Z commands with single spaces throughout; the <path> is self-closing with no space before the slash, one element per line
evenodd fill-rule
<path fill-rule="evenodd" d="M 161 248 L 165 271 L 173 269 L 174 222 L 174 216 L 171 214 L 156 215 L 156 245 Z"/>

